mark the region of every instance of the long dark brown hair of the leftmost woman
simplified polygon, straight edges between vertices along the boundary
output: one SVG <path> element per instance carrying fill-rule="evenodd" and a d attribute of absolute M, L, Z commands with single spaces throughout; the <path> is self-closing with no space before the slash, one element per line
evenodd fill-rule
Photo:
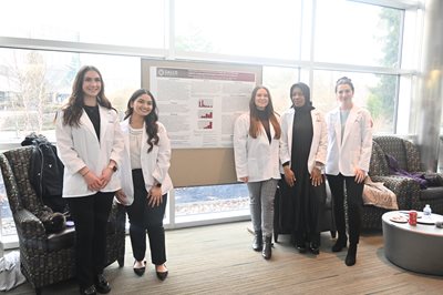
<path fill-rule="evenodd" d="M 97 95 L 97 103 L 106 109 L 113 109 L 111 102 L 104 95 L 104 82 L 99 69 L 93 65 L 84 65 L 76 73 L 74 83 L 72 84 L 72 94 L 66 105 L 63 106 L 63 125 L 80 126 L 80 118 L 82 116 L 84 106 L 83 80 L 89 71 L 94 71 L 100 77 L 102 87 Z"/>

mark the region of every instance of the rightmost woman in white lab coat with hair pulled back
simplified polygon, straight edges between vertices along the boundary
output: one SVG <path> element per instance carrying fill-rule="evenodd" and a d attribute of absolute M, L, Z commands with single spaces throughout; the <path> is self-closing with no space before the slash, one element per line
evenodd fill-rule
<path fill-rule="evenodd" d="M 360 237 L 363 181 L 369 171 L 372 150 L 371 114 L 353 104 L 354 88 L 351 79 L 337 81 L 336 95 L 339 106 L 327 115 L 328 157 L 326 173 L 332 193 L 336 225 L 339 233 L 333 252 L 347 246 L 344 222 L 344 190 L 348 204 L 349 248 L 344 263 L 356 264 Z M 344 184 L 344 185 L 343 185 Z"/>

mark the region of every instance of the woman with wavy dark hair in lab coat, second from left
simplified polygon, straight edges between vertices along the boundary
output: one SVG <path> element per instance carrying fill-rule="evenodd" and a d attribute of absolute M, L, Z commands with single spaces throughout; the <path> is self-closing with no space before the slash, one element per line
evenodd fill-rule
<path fill-rule="evenodd" d="M 173 189 L 168 174 L 171 142 L 165 126 L 158 122 L 158 109 L 153 94 L 140 89 L 127 102 L 122 122 L 125 152 L 122 161 L 122 190 L 116 193 L 127 206 L 130 236 L 134 255 L 134 273 L 146 268 L 146 232 L 150 237 L 151 262 L 158 279 L 164 281 L 166 268 L 165 230 L 163 217 L 167 192 Z"/>

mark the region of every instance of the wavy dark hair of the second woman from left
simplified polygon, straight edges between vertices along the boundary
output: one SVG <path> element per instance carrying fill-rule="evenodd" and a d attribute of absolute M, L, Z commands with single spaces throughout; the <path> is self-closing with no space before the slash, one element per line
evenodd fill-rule
<path fill-rule="evenodd" d="M 153 109 L 152 109 L 151 113 L 144 118 L 145 125 L 146 125 L 146 133 L 147 133 L 147 144 L 150 144 L 150 149 L 147 150 L 147 152 L 150 153 L 153 150 L 154 144 L 158 145 L 158 141 L 159 141 L 158 125 L 157 125 L 158 109 L 157 109 L 157 103 L 154 99 L 154 95 L 148 90 L 143 89 L 143 88 L 135 91 L 131 95 L 130 100 L 127 101 L 127 106 L 126 106 L 124 119 L 130 118 L 134 113 L 134 108 L 131 106 L 131 103 L 134 103 L 134 101 L 143 94 L 147 94 L 153 102 Z"/>

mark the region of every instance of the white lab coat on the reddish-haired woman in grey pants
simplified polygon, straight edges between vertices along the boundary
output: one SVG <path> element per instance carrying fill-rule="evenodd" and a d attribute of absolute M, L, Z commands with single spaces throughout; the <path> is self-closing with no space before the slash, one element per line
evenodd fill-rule
<path fill-rule="evenodd" d="M 240 115 L 234 125 L 234 153 L 237 180 L 248 176 L 249 182 L 279 180 L 279 140 L 269 122 L 271 142 L 265 129 L 254 139 L 249 135 L 249 113 Z"/>

